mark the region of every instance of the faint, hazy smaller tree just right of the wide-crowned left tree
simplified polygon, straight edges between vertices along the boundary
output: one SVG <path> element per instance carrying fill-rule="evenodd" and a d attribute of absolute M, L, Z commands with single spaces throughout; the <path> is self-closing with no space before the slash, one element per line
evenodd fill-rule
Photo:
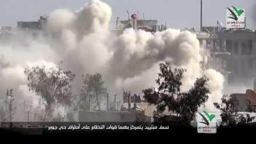
<path fill-rule="evenodd" d="M 86 74 L 82 75 L 83 86 L 81 88 L 81 103 L 79 104 L 79 108 L 88 110 L 89 109 L 89 99 L 95 106 L 93 110 L 96 108 L 100 110 L 100 102 L 102 97 L 107 95 L 107 89 L 103 87 L 104 81 L 102 80 L 102 76 L 97 74 Z"/>

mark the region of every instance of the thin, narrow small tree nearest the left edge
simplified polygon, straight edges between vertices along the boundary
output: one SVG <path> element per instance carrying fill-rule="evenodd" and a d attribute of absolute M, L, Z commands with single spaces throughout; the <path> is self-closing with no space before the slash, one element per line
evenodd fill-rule
<path fill-rule="evenodd" d="M 9 122 L 12 122 L 13 120 L 13 115 L 15 114 L 16 107 L 13 106 L 13 101 L 14 101 L 14 94 L 13 90 L 7 90 L 6 92 L 6 99 L 5 99 L 5 106 L 6 106 L 6 113 Z"/>

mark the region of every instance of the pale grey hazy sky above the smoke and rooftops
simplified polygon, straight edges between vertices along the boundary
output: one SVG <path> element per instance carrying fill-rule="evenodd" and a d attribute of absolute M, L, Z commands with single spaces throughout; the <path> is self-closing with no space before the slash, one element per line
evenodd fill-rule
<path fill-rule="evenodd" d="M 16 26 L 19 20 L 37 20 L 58 8 L 77 10 L 88 0 L 0 0 L 0 26 Z M 200 28 L 200 0 L 104 0 L 113 8 L 111 28 L 116 17 L 127 19 L 126 10 L 139 11 L 139 17 L 157 19 L 171 28 Z M 203 0 L 204 26 L 225 24 L 228 6 L 246 9 L 246 28 L 256 28 L 256 0 Z"/>

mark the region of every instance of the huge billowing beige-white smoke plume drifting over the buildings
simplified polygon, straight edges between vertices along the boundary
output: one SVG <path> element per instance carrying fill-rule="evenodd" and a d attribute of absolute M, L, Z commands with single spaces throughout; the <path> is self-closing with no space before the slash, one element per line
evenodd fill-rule
<path fill-rule="evenodd" d="M 30 100 L 33 108 L 40 105 L 35 93 L 28 91 L 24 68 L 63 61 L 65 70 L 76 74 L 73 91 L 81 88 L 81 74 L 99 72 L 110 95 L 122 90 L 141 93 L 156 86 L 159 63 L 170 61 L 173 67 L 186 68 L 182 90 L 188 90 L 196 77 L 207 76 L 211 97 L 206 105 L 213 111 L 212 102 L 220 102 L 223 76 L 215 70 L 200 68 L 202 56 L 196 35 L 189 31 L 167 29 L 157 33 L 126 29 L 115 35 L 109 29 L 111 7 L 92 0 L 76 12 L 56 10 L 49 15 L 47 33 L 36 38 L 17 31 L 10 42 L 0 44 L 1 99 L 7 89 L 14 88 L 17 103 Z M 18 119 L 17 116 L 16 120 Z"/>

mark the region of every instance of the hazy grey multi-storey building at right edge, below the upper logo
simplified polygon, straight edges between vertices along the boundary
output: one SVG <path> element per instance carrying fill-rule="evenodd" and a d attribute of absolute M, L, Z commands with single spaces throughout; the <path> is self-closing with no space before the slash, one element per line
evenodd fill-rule
<path fill-rule="evenodd" d="M 248 81 L 256 77 L 256 33 L 246 29 L 226 30 L 218 33 L 224 42 L 225 51 L 230 55 L 225 58 L 226 70 L 232 72 L 230 83 Z"/>

